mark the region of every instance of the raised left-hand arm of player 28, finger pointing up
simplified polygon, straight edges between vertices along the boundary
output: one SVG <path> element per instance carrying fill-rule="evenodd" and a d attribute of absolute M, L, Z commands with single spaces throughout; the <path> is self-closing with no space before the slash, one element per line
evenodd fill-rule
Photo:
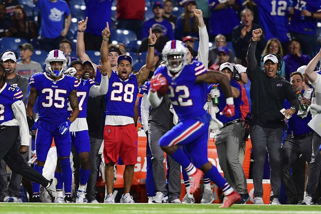
<path fill-rule="evenodd" d="M 110 37 L 110 30 L 109 30 L 109 24 L 106 22 L 106 28 L 101 31 L 101 36 L 102 36 L 102 44 L 101 44 L 101 49 L 100 49 L 100 58 L 101 61 L 100 63 L 106 67 L 107 73 L 108 73 L 108 78 L 111 76 L 111 64 L 108 59 L 108 41 Z"/>

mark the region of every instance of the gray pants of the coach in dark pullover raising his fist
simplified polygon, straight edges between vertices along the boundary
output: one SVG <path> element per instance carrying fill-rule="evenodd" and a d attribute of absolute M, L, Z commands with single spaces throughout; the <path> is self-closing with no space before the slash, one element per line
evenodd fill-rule
<path fill-rule="evenodd" d="M 282 128 L 264 128 L 260 125 L 250 127 L 250 137 L 253 147 L 253 184 L 254 196 L 263 196 L 263 171 L 266 158 L 266 148 L 269 154 L 271 192 L 270 199 L 279 198 L 281 186 L 281 141 Z"/>

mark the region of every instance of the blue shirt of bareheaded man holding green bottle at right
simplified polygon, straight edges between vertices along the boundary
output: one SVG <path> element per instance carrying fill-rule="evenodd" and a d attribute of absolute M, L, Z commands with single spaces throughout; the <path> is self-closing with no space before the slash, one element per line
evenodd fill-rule
<path fill-rule="evenodd" d="M 304 93 L 304 90 L 302 90 L 302 94 Z M 312 96 L 312 94 L 311 94 Z M 289 109 L 291 107 L 291 104 L 288 100 L 284 100 L 283 102 L 283 108 Z M 309 132 L 312 132 L 313 130 L 308 126 L 308 122 L 312 120 L 312 116 L 310 112 L 308 113 L 308 116 L 305 118 L 301 118 L 298 116 L 298 112 L 295 112 L 292 117 L 288 120 L 288 134 L 292 135 L 301 135 L 306 134 Z"/>

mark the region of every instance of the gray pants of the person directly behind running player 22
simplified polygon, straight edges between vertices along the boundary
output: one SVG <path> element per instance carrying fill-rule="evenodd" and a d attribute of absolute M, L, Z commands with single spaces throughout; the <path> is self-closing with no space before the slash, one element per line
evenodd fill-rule
<path fill-rule="evenodd" d="M 168 130 L 164 130 L 153 124 L 148 124 L 148 141 L 152 151 L 152 168 L 154 175 L 155 191 L 167 195 L 165 169 L 164 169 L 164 151 L 158 145 L 158 141 Z M 168 196 L 169 201 L 180 198 L 181 194 L 181 167 L 170 156 L 168 156 Z"/>

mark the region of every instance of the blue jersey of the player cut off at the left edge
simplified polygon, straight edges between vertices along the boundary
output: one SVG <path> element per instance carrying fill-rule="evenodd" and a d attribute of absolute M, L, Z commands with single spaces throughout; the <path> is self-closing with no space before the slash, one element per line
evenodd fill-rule
<path fill-rule="evenodd" d="M 11 105 L 22 98 L 22 91 L 19 87 L 4 83 L 0 89 L 0 124 L 13 120 Z"/>

